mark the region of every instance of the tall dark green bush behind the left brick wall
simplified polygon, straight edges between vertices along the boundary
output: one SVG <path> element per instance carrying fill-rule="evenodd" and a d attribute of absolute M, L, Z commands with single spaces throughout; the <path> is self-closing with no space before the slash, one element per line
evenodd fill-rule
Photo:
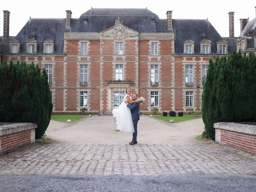
<path fill-rule="evenodd" d="M 52 115 L 48 76 L 38 65 L 17 62 L 0 66 L 0 122 L 37 124 L 36 139 L 43 136 Z"/>

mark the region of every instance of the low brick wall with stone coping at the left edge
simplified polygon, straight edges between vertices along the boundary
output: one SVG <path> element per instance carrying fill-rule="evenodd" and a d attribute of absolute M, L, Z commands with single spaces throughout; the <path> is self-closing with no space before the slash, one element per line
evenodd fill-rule
<path fill-rule="evenodd" d="M 35 143 L 34 123 L 0 123 L 0 155 Z"/>

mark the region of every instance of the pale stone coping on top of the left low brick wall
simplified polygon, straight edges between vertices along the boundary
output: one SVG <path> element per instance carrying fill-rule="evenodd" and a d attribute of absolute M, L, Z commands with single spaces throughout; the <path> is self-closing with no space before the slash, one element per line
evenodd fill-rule
<path fill-rule="evenodd" d="M 37 128 L 35 123 L 3 123 L 0 122 L 0 136 Z"/>

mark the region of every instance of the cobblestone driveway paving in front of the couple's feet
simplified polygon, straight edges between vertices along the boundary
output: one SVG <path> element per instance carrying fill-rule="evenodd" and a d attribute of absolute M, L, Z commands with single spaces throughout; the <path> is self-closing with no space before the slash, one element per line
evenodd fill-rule
<path fill-rule="evenodd" d="M 156 120 L 159 126 L 159 121 Z M 256 156 L 214 142 L 190 144 L 40 143 L 0 156 L 6 174 L 256 173 Z"/>

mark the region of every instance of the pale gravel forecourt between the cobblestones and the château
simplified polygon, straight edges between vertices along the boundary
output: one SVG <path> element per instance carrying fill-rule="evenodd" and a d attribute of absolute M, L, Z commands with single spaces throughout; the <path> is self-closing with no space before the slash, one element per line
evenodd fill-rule
<path fill-rule="evenodd" d="M 203 130 L 202 118 L 171 124 L 142 115 L 137 140 L 140 144 L 192 144 Z M 70 124 L 51 120 L 46 135 L 72 144 L 124 144 L 132 140 L 132 134 L 116 131 L 110 115 L 93 115 Z"/>

